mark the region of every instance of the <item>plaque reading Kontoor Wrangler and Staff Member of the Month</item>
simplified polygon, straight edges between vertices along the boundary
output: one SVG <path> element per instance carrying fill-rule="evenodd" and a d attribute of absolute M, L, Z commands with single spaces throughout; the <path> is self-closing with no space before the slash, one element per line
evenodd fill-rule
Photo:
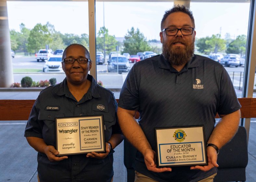
<path fill-rule="evenodd" d="M 103 115 L 56 118 L 59 155 L 105 152 Z"/>

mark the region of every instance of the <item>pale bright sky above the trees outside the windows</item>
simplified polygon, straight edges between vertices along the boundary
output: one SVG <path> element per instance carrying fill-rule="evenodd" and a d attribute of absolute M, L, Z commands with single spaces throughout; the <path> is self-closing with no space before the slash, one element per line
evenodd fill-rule
<path fill-rule="evenodd" d="M 139 28 L 147 40 L 160 40 L 160 22 L 173 2 L 96 2 L 96 34 L 104 25 L 110 35 L 124 37 L 131 27 Z M 103 16 L 103 9 L 105 11 Z M 232 38 L 247 35 L 250 3 L 190 3 L 196 37 L 229 33 Z M 9 29 L 19 31 L 24 23 L 32 29 L 50 22 L 62 34 L 89 34 L 88 2 L 7 1 Z M 104 17 L 104 18 L 103 18 Z"/>

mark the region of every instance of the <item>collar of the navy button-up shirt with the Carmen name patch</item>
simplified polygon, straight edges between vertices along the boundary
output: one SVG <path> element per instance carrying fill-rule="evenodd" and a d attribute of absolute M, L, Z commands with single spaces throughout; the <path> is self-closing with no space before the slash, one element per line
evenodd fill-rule
<path fill-rule="evenodd" d="M 94 97 L 94 98 L 99 98 L 99 91 L 98 91 L 98 86 L 97 86 L 97 82 L 96 80 L 93 78 L 92 75 L 87 76 L 87 80 L 91 81 L 91 86 L 89 88 L 89 90 L 87 91 L 87 96 L 89 97 L 89 99 L 91 99 L 90 96 Z M 61 95 L 70 95 L 70 91 L 67 85 L 67 78 L 65 78 L 58 87 L 56 87 L 55 91 L 54 91 L 57 95 L 61 96 Z"/>

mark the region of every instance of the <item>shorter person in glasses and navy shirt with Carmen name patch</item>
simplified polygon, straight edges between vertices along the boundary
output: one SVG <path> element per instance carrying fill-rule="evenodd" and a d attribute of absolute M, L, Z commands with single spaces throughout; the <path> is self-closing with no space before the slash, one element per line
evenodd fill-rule
<path fill-rule="evenodd" d="M 117 103 L 113 93 L 97 85 L 88 74 L 91 66 L 89 52 L 83 45 L 68 46 L 62 57 L 66 78 L 41 91 L 33 105 L 25 137 L 38 151 L 37 171 L 41 182 L 113 180 L 113 149 L 123 140 L 116 116 Z M 97 107 L 99 104 L 104 109 Z M 47 109 L 47 106 L 58 109 Z M 58 157 L 55 118 L 86 115 L 104 115 L 106 153 Z"/>

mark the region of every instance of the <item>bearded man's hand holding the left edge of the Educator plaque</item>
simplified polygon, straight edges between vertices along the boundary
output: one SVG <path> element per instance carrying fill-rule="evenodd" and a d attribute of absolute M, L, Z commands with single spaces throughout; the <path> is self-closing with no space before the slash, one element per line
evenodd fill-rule
<path fill-rule="evenodd" d="M 157 172 L 157 173 L 172 171 L 172 168 L 170 167 L 157 168 L 155 151 L 149 148 L 146 149 L 144 152 L 144 160 L 145 160 L 147 169 L 150 171 Z"/>

